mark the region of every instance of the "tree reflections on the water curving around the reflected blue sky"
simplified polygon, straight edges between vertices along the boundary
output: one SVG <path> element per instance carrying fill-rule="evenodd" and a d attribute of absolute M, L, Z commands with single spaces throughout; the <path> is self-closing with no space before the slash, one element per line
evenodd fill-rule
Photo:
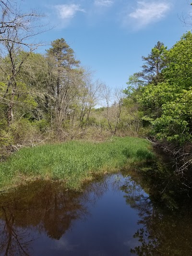
<path fill-rule="evenodd" d="M 148 168 L 148 167 L 147 167 Z M 89 206 L 112 188 L 123 191 L 126 203 L 138 215 L 134 239 L 138 256 L 189 256 L 192 252 L 192 200 L 168 171 L 130 171 L 113 178 L 97 177 L 79 192 L 66 191 L 60 183 L 35 182 L 0 196 L 0 254 L 33 255 L 41 234 L 60 240 L 73 220 L 86 219 Z M 115 206 L 114 206 L 115 207 Z M 61 239 L 62 240 L 62 239 Z M 128 253 L 130 255 L 130 252 Z"/>

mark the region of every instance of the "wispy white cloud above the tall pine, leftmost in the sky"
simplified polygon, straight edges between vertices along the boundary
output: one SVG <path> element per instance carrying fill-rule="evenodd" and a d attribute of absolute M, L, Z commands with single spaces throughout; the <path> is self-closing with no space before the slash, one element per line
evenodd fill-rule
<path fill-rule="evenodd" d="M 77 12 L 85 12 L 84 9 L 80 8 L 79 4 L 60 4 L 55 5 L 60 19 L 69 21 Z"/>

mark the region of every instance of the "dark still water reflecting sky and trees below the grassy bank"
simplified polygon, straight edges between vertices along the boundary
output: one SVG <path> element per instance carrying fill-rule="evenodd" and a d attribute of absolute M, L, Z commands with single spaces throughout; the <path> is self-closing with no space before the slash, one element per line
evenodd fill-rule
<path fill-rule="evenodd" d="M 98 178 L 81 193 L 36 182 L 0 195 L 0 255 L 192 255 L 189 189 L 146 170 Z"/>

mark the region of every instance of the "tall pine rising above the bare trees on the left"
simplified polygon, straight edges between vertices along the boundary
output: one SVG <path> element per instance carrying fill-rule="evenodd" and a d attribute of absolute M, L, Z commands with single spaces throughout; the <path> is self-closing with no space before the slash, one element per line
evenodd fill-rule
<path fill-rule="evenodd" d="M 49 91 L 54 98 L 55 119 L 60 128 L 72 111 L 70 107 L 78 94 L 78 85 L 81 83 L 83 71 L 76 69 L 80 61 L 75 60 L 73 50 L 63 38 L 51 43 L 51 48 L 47 50 L 47 57 L 53 76 Z"/>

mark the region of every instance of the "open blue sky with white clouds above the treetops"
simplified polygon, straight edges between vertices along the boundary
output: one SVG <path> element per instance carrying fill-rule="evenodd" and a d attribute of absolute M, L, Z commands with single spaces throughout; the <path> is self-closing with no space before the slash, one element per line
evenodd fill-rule
<path fill-rule="evenodd" d="M 54 28 L 40 39 L 63 37 L 81 65 L 113 88 L 126 87 L 157 41 L 170 48 L 192 29 L 179 19 L 192 12 L 187 0 L 25 0 L 21 8 L 44 12 Z"/>

